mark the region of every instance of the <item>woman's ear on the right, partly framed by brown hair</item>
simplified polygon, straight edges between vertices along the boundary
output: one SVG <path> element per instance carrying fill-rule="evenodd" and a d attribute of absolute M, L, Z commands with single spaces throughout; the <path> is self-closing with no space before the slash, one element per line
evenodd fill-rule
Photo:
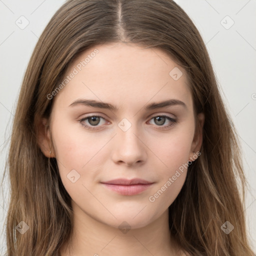
<path fill-rule="evenodd" d="M 203 131 L 203 124 L 204 124 L 204 114 L 198 113 L 197 120 L 196 120 L 196 129 L 194 132 L 193 141 L 191 143 L 191 150 L 190 150 L 190 158 L 194 159 L 194 154 L 197 151 L 200 151 L 202 145 L 202 131 Z"/>

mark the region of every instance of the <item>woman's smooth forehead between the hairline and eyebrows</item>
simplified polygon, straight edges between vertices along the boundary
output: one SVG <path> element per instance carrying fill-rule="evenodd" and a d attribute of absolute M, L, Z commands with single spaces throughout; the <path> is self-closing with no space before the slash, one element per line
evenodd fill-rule
<path fill-rule="evenodd" d="M 88 48 L 72 61 L 64 79 L 56 95 L 64 105 L 78 97 L 114 101 L 117 106 L 167 98 L 192 102 L 185 71 L 161 49 L 136 44 Z"/>

